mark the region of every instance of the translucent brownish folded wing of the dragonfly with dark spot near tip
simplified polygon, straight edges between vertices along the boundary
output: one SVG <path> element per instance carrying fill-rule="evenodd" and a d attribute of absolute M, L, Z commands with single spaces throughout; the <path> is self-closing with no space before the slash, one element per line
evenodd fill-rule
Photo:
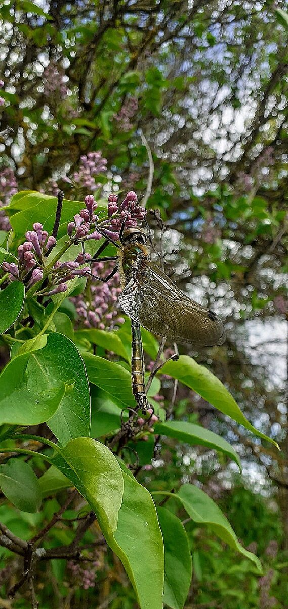
<path fill-rule="evenodd" d="M 196 347 L 221 345 L 225 340 L 221 319 L 183 294 L 152 262 L 132 271 L 119 301 L 131 319 L 159 336 Z"/>

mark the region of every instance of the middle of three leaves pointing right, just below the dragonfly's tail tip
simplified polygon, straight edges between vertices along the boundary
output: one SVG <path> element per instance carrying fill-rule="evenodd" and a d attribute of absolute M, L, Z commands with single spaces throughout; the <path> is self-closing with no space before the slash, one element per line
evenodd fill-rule
<path fill-rule="evenodd" d="M 156 423 L 154 429 L 156 434 L 167 435 L 169 438 L 176 438 L 187 444 L 201 444 L 208 448 L 214 448 L 216 451 L 224 452 L 237 463 L 241 470 L 239 455 L 227 440 L 223 440 L 218 434 L 214 434 L 201 425 L 194 425 L 188 423 L 188 421 L 165 421 L 165 423 Z"/>

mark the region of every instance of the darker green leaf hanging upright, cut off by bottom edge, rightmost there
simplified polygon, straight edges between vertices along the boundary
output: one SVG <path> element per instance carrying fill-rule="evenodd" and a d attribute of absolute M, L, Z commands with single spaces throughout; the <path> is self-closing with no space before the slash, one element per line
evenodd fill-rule
<path fill-rule="evenodd" d="M 157 507 L 164 541 L 165 579 L 163 602 L 171 609 L 182 609 L 192 577 L 192 560 L 187 533 L 177 516 Z"/>

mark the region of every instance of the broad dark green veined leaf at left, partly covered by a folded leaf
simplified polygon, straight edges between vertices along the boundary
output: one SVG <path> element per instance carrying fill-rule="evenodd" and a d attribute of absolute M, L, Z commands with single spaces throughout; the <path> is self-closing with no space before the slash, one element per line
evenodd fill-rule
<path fill-rule="evenodd" d="M 48 389 L 58 382 L 71 384 L 73 388 L 47 424 L 62 445 L 72 438 L 86 437 L 90 432 L 89 383 L 80 353 L 72 340 L 63 334 L 47 336 L 44 349 L 36 351 L 27 366 L 30 387 Z"/>

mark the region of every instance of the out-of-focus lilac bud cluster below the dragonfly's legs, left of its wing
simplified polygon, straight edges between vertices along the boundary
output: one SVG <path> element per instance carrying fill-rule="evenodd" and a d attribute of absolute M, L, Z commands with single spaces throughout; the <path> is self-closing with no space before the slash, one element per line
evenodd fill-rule
<path fill-rule="evenodd" d="M 103 271 L 110 272 L 115 262 L 94 262 L 91 265 L 93 275 L 106 276 Z M 107 273 L 108 274 L 108 273 Z M 71 298 L 77 313 L 79 328 L 98 328 L 100 330 L 113 330 L 116 326 L 124 323 L 125 319 L 120 315 L 118 295 L 122 288 L 120 286 L 120 275 L 115 273 L 107 283 L 89 277 L 83 294 Z"/>

